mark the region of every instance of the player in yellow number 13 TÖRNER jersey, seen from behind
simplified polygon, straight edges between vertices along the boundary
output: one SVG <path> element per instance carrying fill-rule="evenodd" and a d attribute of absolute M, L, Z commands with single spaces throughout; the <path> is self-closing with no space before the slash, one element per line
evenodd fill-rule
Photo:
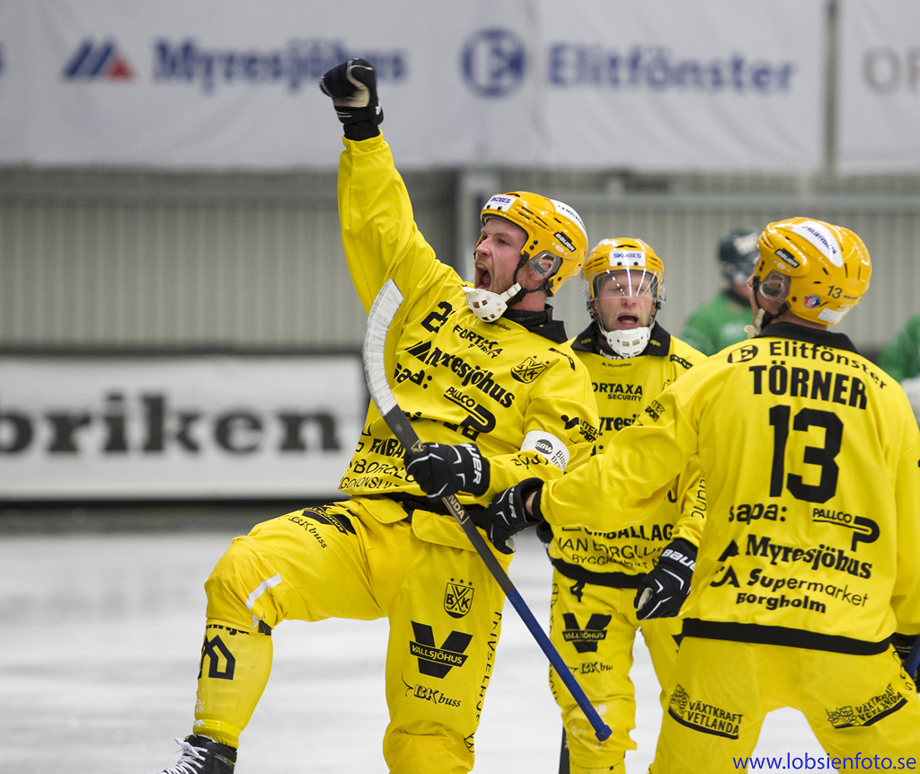
<path fill-rule="evenodd" d="M 652 772 L 740 770 L 780 707 L 830 756 L 898 768 L 920 750 L 902 664 L 920 632 L 920 431 L 897 383 L 828 330 L 868 288 L 862 240 L 799 217 L 759 250 L 752 340 L 692 368 L 603 457 L 523 481 L 481 520 L 493 540 L 540 517 L 636 523 L 698 453 L 706 526 Z"/>

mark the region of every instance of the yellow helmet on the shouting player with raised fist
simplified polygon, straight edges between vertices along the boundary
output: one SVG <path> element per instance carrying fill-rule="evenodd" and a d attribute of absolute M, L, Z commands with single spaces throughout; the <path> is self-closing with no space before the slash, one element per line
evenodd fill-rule
<path fill-rule="evenodd" d="M 512 191 L 493 196 L 479 215 L 485 224 L 491 217 L 519 225 L 527 234 L 521 256 L 534 260 L 548 256 L 553 266 L 546 271 L 546 294 L 553 295 L 569 277 L 574 277 L 588 251 L 588 234 L 581 217 L 568 204 L 537 193 Z M 531 267 L 540 276 L 540 264 Z"/>

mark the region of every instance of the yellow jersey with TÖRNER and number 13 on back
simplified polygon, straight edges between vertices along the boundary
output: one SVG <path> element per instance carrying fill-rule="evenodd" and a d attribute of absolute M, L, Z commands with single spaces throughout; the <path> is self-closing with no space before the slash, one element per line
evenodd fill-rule
<path fill-rule="evenodd" d="M 881 653 L 920 632 L 920 431 L 841 333 L 783 322 L 697 364 L 545 485 L 554 525 L 654 513 L 698 454 L 707 518 L 684 635 Z"/>

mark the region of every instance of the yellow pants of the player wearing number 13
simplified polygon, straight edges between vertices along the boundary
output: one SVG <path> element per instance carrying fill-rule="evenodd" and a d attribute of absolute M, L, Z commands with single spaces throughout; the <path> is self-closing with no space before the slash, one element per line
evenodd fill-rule
<path fill-rule="evenodd" d="M 920 700 L 893 648 L 846 655 L 687 637 L 650 772 L 737 774 L 765 714 L 781 707 L 805 715 L 832 758 L 889 757 L 897 769 L 899 757 L 920 756 Z"/>

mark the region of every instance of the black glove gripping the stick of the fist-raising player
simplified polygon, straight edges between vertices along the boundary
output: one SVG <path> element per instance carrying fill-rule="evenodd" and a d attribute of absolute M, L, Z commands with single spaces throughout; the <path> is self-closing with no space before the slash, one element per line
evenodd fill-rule
<path fill-rule="evenodd" d="M 489 460 L 476 444 L 423 444 L 420 452 L 409 450 L 404 457 L 406 472 L 431 500 L 468 491 L 473 495 L 489 490 Z"/>

